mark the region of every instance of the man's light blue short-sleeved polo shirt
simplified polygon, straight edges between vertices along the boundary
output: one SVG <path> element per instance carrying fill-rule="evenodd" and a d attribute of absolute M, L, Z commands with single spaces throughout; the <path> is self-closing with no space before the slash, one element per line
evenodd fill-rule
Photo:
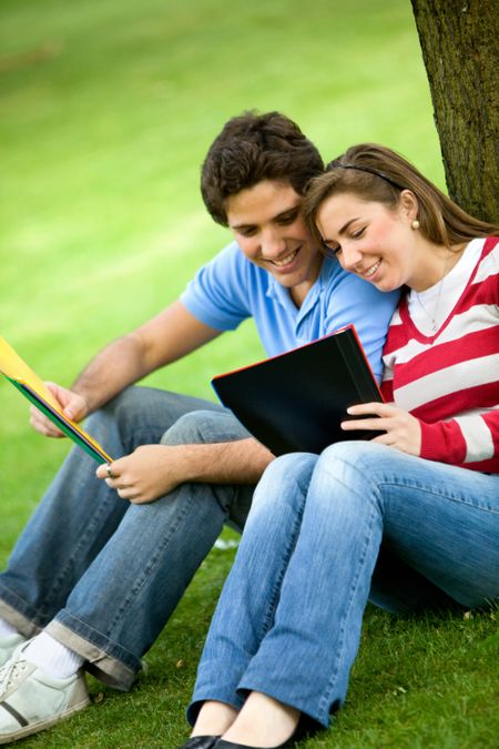
<path fill-rule="evenodd" d="M 381 376 L 381 351 L 398 292 L 384 294 L 325 259 L 320 274 L 297 308 L 287 289 L 247 260 L 236 242 L 200 269 L 181 295 L 201 322 L 233 331 L 253 317 L 268 356 L 315 341 L 353 323 L 373 372 Z"/>

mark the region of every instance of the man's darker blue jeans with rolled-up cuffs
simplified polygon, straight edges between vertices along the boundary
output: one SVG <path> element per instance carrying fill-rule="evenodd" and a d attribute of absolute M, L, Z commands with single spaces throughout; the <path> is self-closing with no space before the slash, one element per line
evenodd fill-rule
<path fill-rule="evenodd" d="M 248 436 L 214 403 L 146 387 L 125 391 L 86 428 L 113 458 L 160 441 Z M 79 447 L 69 453 L 0 575 L 0 616 L 26 636 L 47 627 L 89 671 L 128 689 L 223 524 L 242 529 L 253 487 L 184 484 L 133 505 L 95 468 Z"/>

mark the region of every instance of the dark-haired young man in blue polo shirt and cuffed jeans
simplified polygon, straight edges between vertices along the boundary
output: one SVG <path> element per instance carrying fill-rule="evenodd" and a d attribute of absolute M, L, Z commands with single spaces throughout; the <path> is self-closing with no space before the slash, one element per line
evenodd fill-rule
<path fill-rule="evenodd" d="M 268 355 L 355 323 L 380 375 L 397 297 L 319 253 L 301 199 L 322 169 L 284 115 L 230 120 L 203 164 L 202 194 L 235 242 L 71 391 L 52 386 L 70 418 L 91 415 L 89 432 L 116 459 L 95 474 L 71 451 L 0 575 L 0 742 L 85 707 L 82 669 L 130 688 L 223 524 L 243 527 L 273 459 L 216 404 L 130 385 L 248 316 Z M 31 419 L 60 436 L 39 412 Z"/>

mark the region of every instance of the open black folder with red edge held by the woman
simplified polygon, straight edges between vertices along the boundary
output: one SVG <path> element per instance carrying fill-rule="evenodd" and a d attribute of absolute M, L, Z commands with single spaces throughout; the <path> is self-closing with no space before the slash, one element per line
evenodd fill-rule
<path fill-rule="evenodd" d="M 348 406 L 383 402 L 353 325 L 217 375 L 212 385 L 223 405 L 274 455 L 320 453 L 334 442 L 379 434 L 339 427 L 353 418 Z"/>

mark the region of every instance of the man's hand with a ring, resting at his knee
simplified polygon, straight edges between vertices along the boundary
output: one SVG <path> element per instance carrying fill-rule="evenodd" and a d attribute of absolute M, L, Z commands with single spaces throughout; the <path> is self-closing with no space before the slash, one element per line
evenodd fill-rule
<path fill-rule="evenodd" d="M 181 483 L 173 451 L 167 445 L 142 445 L 131 455 L 99 466 L 95 475 L 122 499 L 136 505 L 154 502 Z"/>

